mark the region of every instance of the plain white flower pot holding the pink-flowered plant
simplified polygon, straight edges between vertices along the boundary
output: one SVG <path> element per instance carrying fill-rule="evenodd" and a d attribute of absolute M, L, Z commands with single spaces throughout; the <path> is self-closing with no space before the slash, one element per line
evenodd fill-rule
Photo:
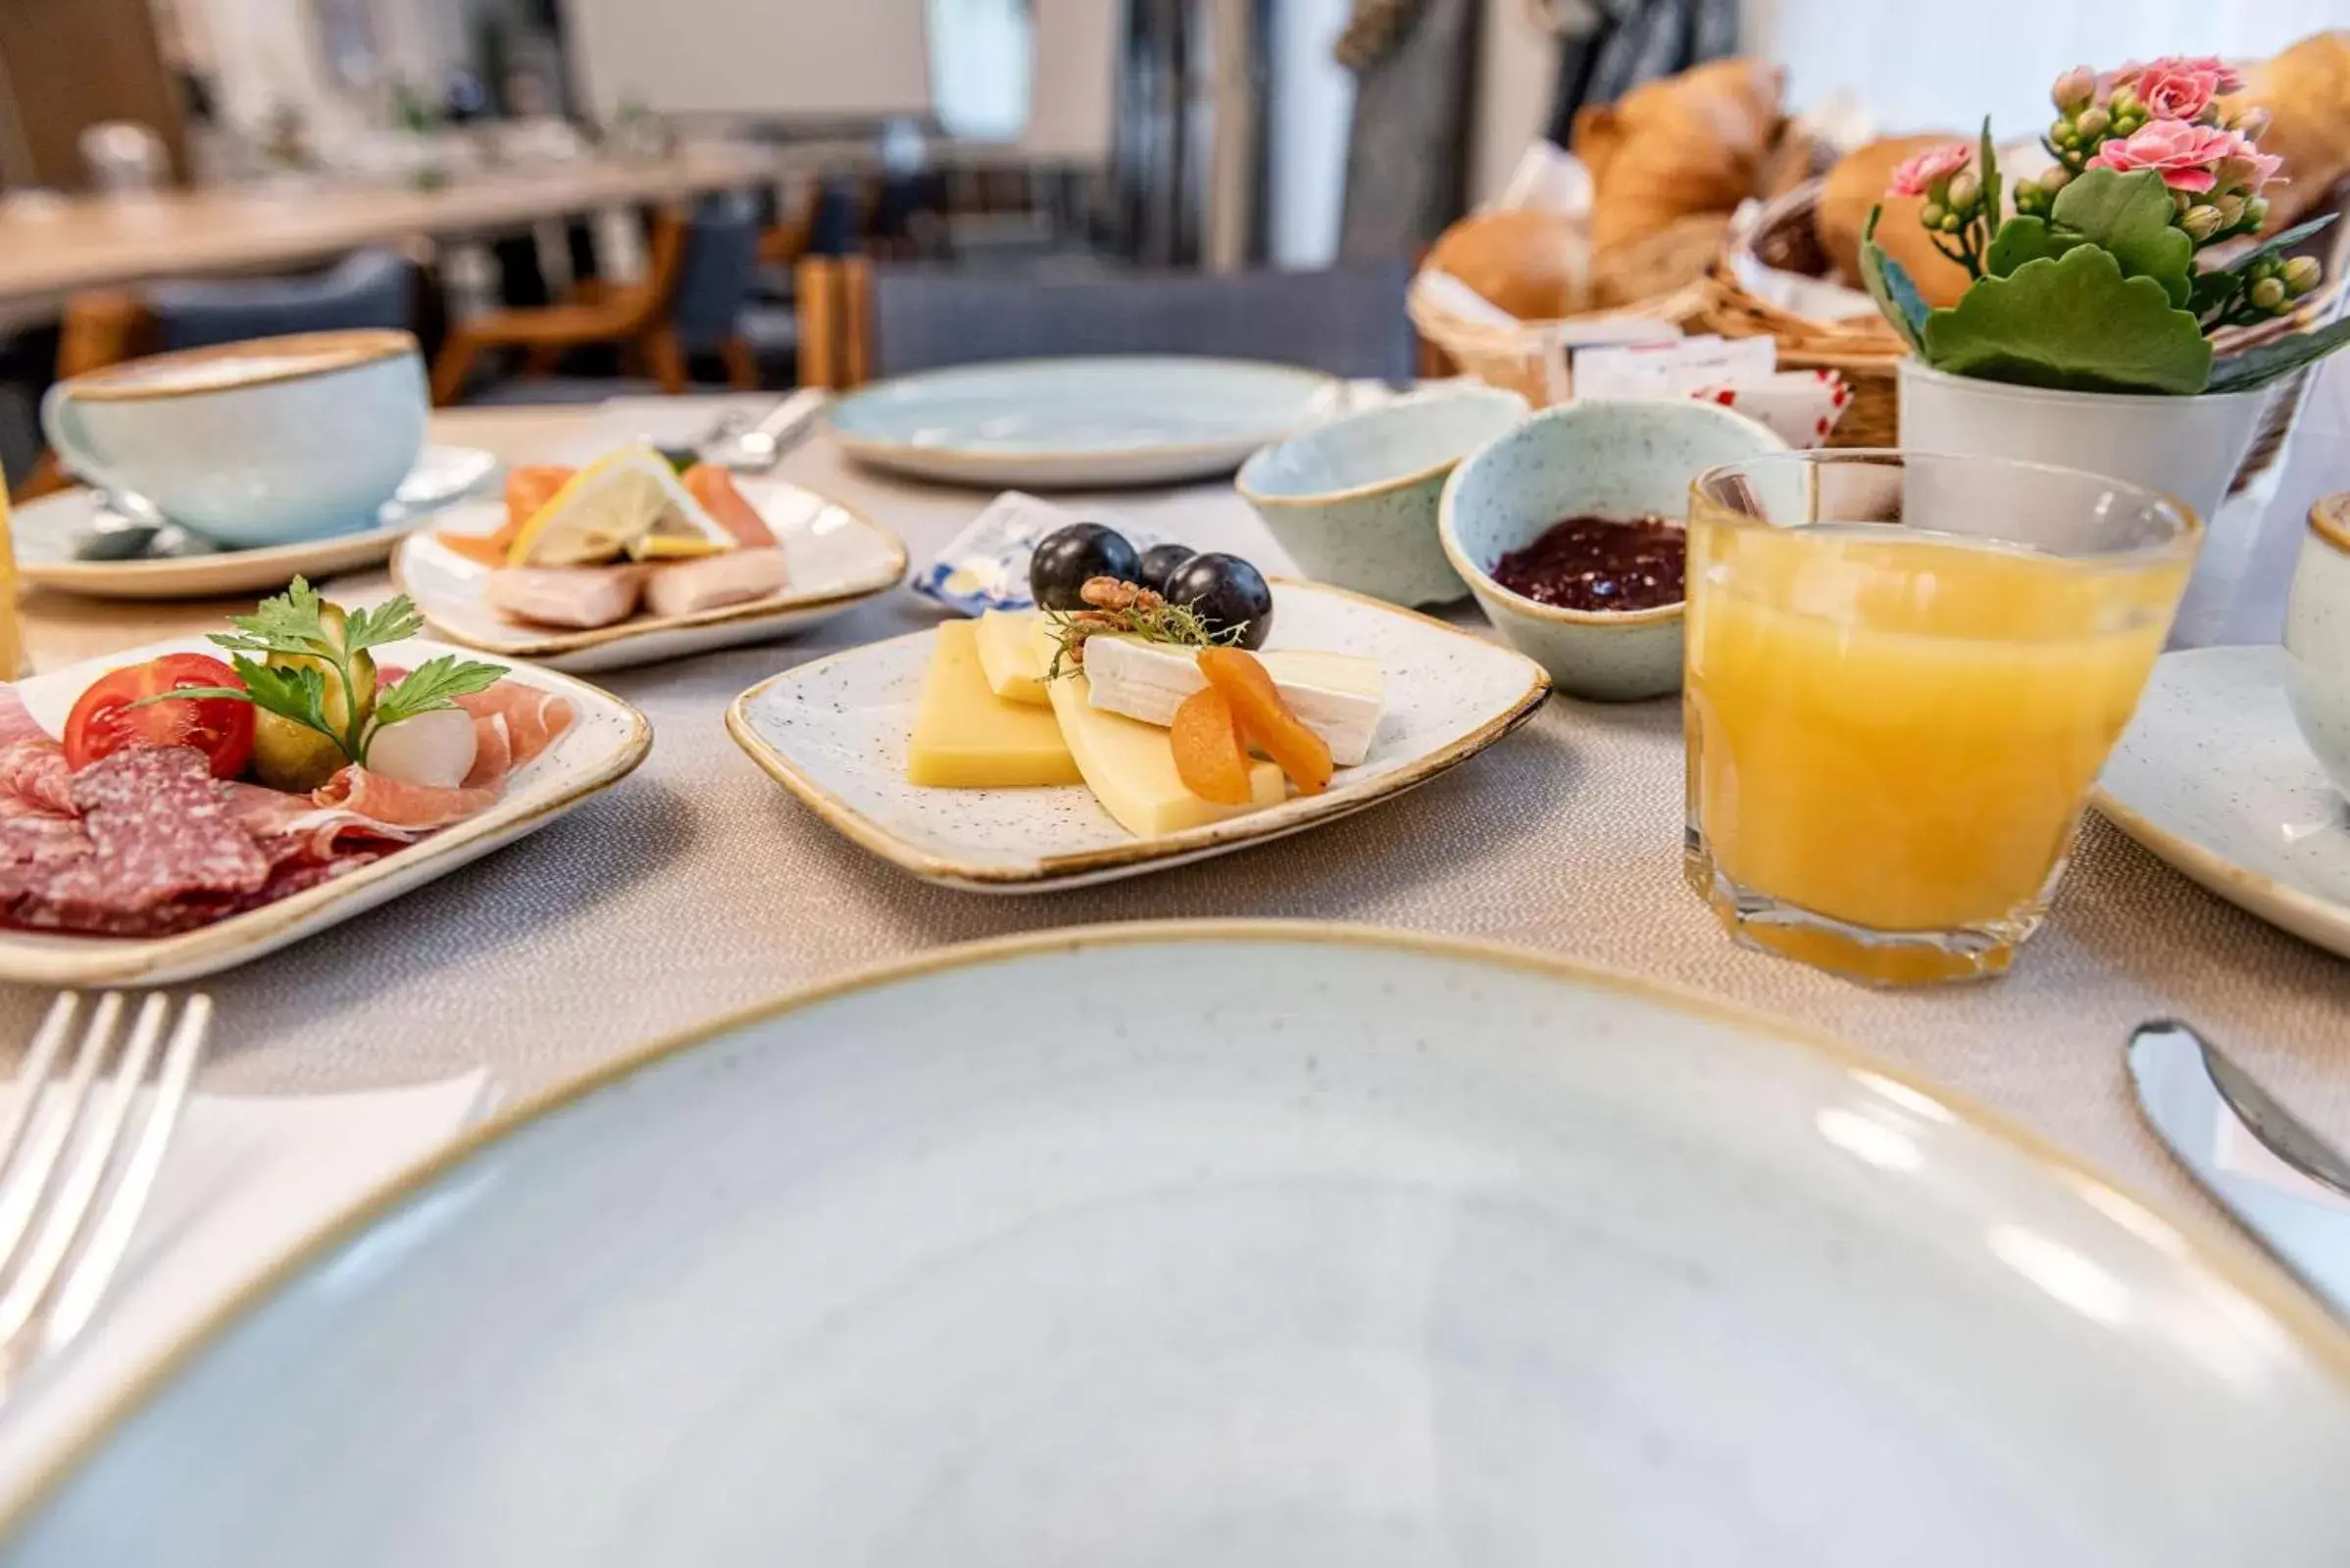
<path fill-rule="evenodd" d="M 1901 361 L 1906 451 L 2108 474 L 2174 495 L 2207 523 L 2228 498 L 2265 404 L 2265 390 L 2202 397 L 2054 392 Z"/>

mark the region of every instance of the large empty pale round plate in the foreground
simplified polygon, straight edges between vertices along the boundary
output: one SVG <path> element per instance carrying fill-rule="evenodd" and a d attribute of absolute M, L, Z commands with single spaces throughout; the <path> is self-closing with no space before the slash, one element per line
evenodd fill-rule
<path fill-rule="evenodd" d="M 2350 1343 L 1779 1026 L 1401 932 L 933 953 L 402 1183 L 0 1561 L 2334 1568 Z"/>

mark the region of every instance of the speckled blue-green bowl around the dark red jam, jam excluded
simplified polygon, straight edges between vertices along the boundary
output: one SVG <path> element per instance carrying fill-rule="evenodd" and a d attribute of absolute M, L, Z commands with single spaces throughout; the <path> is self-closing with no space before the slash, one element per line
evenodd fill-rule
<path fill-rule="evenodd" d="M 1786 441 L 1744 413 L 1690 401 L 1560 404 L 1452 469 L 1438 538 L 1502 636 L 1558 690 L 1631 702 L 1680 690 L 1683 606 L 1563 610 L 1511 594 L 1492 568 L 1570 516 L 1690 514 L 1690 481 Z"/>

